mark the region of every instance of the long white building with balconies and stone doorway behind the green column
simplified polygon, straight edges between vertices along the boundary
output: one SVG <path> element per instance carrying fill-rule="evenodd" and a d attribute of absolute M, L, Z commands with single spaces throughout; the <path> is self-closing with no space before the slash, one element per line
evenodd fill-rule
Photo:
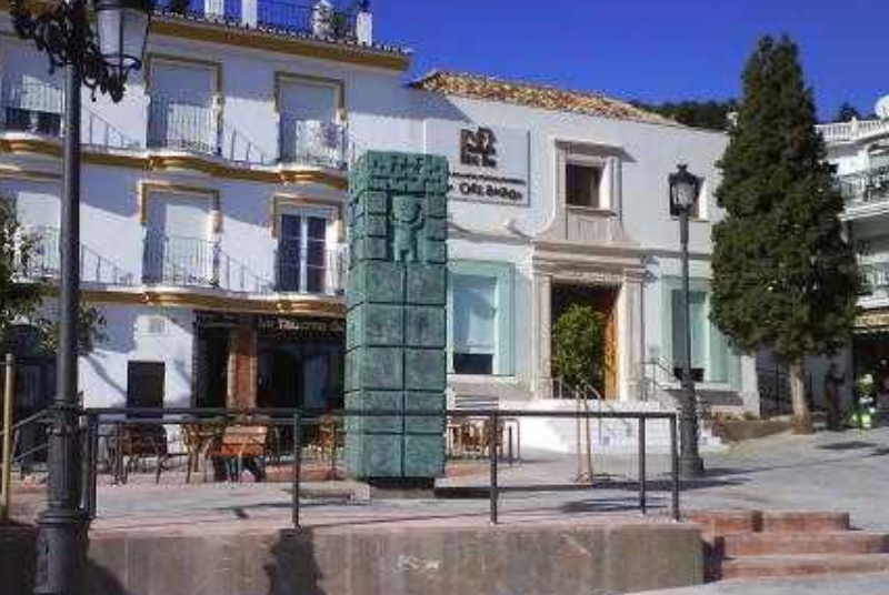
<path fill-rule="evenodd" d="M 409 53 L 374 43 L 368 12 L 331 31 L 317 8 L 256 1 L 226 19 L 210 0 L 158 14 L 124 100 L 84 92 L 82 280 L 109 335 L 81 362 L 88 404 L 338 406 L 346 174 L 374 149 L 449 158 L 450 384 L 508 406 L 558 402 L 550 334 L 575 302 L 609 320 L 603 396 L 669 399 L 667 179 L 688 163 L 703 178 L 693 367 L 706 400 L 758 410 L 753 360 L 708 320 L 726 135 L 588 93 L 444 72 L 406 83 Z M 62 85 L 2 23 L 0 194 L 41 238 L 24 273 L 51 285 Z"/>

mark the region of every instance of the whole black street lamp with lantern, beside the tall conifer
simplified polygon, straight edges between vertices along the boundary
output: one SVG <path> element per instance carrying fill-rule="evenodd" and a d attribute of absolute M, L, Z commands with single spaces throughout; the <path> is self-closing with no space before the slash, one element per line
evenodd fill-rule
<path fill-rule="evenodd" d="M 682 244 L 682 400 L 679 411 L 679 473 L 682 477 L 703 476 L 703 460 L 698 450 L 698 402 L 695 396 L 695 379 L 691 376 L 691 311 L 690 280 L 688 266 L 688 222 L 698 202 L 701 182 L 688 171 L 688 165 L 679 165 L 670 174 L 670 212 L 679 216 L 679 234 Z"/>

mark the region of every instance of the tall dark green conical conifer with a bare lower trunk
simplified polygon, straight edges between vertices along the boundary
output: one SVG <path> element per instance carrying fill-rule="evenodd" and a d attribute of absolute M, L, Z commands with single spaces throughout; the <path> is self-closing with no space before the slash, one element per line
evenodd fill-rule
<path fill-rule="evenodd" d="M 815 125 L 797 46 L 761 39 L 720 163 L 712 320 L 740 349 L 769 347 L 789 365 L 798 432 L 811 431 L 802 359 L 848 341 L 858 293 L 842 198 Z"/>

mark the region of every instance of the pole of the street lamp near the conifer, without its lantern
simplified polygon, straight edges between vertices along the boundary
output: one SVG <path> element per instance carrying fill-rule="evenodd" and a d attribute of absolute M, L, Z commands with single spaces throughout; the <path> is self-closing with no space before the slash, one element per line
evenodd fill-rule
<path fill-rule="evenodd" d="M 679 213 L 679 233 L 682 244 L 682 401 L 679 412 L 680 453 L 679 474 L 685 478 L 703 476 L 703 460 L 698 450 L 698 403 L 695 380 L 691 377 L 691 281 L 688 256 L 688 226 L 690 208 Z"/>

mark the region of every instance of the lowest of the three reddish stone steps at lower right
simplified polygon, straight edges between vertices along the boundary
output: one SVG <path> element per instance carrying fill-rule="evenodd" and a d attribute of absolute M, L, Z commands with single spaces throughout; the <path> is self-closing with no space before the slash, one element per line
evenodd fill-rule
<path fill-rule="evenodd" d="M 722 563 L 721 577 L 775 578 L 782 576 L 872 574 L 889 572 L 889 554 L 836 556 L 747 556 Z"/>

